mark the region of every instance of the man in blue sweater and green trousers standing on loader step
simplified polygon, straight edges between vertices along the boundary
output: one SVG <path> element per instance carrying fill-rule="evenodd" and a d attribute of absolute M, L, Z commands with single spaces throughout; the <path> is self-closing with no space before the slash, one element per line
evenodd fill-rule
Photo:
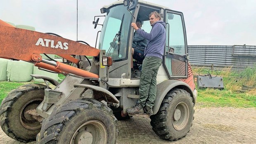
<path fill-rule="evenodd" d="M 140 98 L 137 104 L 126 109 L 128 114 L 143 114 L 151 116 L 153 114 L 152 107 L 156 98 L 156 75 L 162 63 L 164 55 L 164 46 L 166 42 L 166 24 L 161 21 L 161 16 L 154 11 L 149 14 L 149 22 L 152 26 L 150 33 L 147 33 L 131 23 L 136 33 L 148 40 L 145 48 L 145 59 L 142 63 L 142 71 L 140 76 Z"/>

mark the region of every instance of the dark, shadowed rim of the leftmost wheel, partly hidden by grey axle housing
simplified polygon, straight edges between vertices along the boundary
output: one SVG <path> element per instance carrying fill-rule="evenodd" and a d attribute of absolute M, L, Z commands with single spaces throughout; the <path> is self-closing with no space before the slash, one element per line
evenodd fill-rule
<path fill-rule="evenodd" d="M 19 121 L 21 125 L 28 130 L 38 130 L 41 128 L 40 122 L 35 120 L 30 114 L 26 114 L 26 111 L 36 109 L 38 105 L 43 102 L 43 99 L 34 99 L 27 102 L 19 113 Z"/>

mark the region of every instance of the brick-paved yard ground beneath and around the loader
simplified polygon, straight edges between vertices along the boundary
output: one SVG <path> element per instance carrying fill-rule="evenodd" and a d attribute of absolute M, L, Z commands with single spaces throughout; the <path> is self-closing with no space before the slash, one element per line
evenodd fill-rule
<path fill-rule="evenodd" d="M 149 118 L 119 121 L 117 144 L 256 144 L 255 108 L 195 108 L 187 137 L 176 142 L 160 139 Z M 35 144 L 30 142 L 29 144 Z M 0 144 L 24 144 L 9 138 L 0 129 Z"/>

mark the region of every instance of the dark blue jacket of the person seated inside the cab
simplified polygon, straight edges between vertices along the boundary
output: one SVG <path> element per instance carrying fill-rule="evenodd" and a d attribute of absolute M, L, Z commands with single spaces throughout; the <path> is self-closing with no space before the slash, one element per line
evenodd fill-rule
<path fill-rule="evenodd" d="M 147 46 L 147 39 L 135 33 L 133 37 L 133 48 L 139 49 L 140 51 L 144 52 L 146 46 Z"/>

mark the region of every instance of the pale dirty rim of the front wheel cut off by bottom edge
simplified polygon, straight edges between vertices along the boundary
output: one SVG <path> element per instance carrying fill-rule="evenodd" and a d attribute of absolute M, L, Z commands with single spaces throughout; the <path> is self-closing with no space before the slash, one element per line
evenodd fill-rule
<path fill-rule="evenodd" d="M 70 144 L 107 144 L 107 128 L 100 121 L 87 121 L 76 129 Z"/>

